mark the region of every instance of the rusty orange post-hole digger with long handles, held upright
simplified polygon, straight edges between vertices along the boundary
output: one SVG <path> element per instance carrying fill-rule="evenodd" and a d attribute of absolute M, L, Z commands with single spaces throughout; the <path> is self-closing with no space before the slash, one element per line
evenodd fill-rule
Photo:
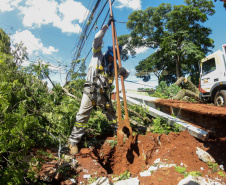
<path fill-rule="evenodd" d="M 109 0 L 110 5 L 110 15 L 113 16 L 112 12 L 112 6 L 111 6 L 111 0 Z M 118 84 L 118 71 L 117 71 L 117 61 L 118 59 L 119 68 L 122 67 L 121 64 L 121 58 L 120 58 L 120 52 L 119 52 L 119 45 L 118 45 L 118 39 L 115 29 L 115 23 L 111 22 L 111 28 L 112 28 L 112 41 L 113 41 L 113 54 L 114 56 L 114 70 L 115 70 L 115 83 L 116 83 L 116 100 L 117 100 L 117 121 L 118 121 L 118 130 L 117 130 L 117 139 L 118 139 L 118 145 L 122 146 L 124 144 L 124 135 L 126 134 L 129 136 L 129 143 L 132 143 L 132 128 L 129 123 L 129 115 L 127 110 L 127 103 L 126 103 L 126 93 L 125 93 L 125 85 L 124 85 L 124 77 L 121 76 L 121 84 L 122 84 L 122 93 L 123 93 L 123 102 L 124 102 L 124 108 L 125 108 L 125 117 L 124 120 L 122 119 L 122 111 L 121 111 L 121 104 L 120 104 L 120 98 L 119 98 L 119 84 Z M 117 53 L 115 50 L 115 42 L 116 42 L 116 48 Z M 126 131 L 126 133 L 124 133 Z"/>

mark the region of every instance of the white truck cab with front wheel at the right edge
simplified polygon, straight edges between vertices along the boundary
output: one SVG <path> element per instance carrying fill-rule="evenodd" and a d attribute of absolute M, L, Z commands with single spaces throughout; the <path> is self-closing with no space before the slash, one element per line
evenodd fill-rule
<path fill-rule="evenodd" d="M 199 98 L 226 107 L 226 44 L 200 63 Z"/>

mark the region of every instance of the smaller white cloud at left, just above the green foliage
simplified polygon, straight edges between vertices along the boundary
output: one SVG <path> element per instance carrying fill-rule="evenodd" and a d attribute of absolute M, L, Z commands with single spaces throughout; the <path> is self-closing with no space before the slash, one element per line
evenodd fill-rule
<path fill-rule="evenodd" d="M 33 54 L 33 52 L 39 51 L 43 54 L 51 55 L 54 52 L 58 52 L 53 46 L 45 47 L 39 38 L 36 38 L 29 30 L 16 31 L 12 35 L 13 44 L 23 42 L 24 46 L 27 48 L 28 54 Z"/>

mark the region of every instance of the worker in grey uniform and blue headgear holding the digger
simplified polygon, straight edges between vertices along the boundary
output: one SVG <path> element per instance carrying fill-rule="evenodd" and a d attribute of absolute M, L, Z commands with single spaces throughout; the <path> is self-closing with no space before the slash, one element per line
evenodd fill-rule
<path fill-rule="evenodd" d="M 111 104 L 111 98 L 107 95 L 107 92 L 111 91 L 111 84 L 114 80 L 113 47 L 108 47 L 105 54 L 101 51 L 103 37 L 112 21 L 114 21 L 114 19 L 110 17 L 108 24 L 104 25 L 100 31 L 96 33 L 93 40 L 93 54 L 84 84 L 82 101 L 79 112 L 76 115 L 75 125 L 69 136 L 69 148 L 70 154 L 72 155 L 78 153 L 77 144 L 81 141 L 85 133 L 93 108 L 96 109 L 96 106 L 101 107 L 109 123 L 117 125 L 117 116 Z M 129 71 L 121 67 L 118 69 L 118 74 L 119 76 L 127 78 Z"/>

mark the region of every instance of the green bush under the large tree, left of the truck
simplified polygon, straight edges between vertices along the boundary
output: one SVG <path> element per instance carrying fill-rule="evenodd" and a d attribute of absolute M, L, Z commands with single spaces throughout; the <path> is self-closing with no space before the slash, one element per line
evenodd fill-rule
<path fill-rule="evenodd" d="M 175 84 L 168 86 L 165 81 L 162 81 L 159 84 L 159 86 L 156 88 L 156 91 L 151 96 L 157 97 L 157 98 L 164 98 L 164 99 L 172 98 L 180 90 L 181 90 L 181 87 Z"/>

